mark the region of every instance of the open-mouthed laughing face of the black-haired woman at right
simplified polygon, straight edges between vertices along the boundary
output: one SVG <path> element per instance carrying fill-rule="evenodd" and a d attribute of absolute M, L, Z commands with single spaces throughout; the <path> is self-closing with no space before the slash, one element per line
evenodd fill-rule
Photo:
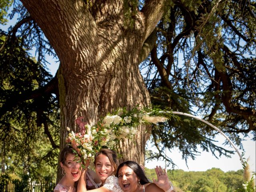
<path fill-rule="evenodd" d="M 122 166 L 118 170 L 118 183 L 124 192 L 136 192 L 140 190 L 138 177 L 128 166 Z"/>

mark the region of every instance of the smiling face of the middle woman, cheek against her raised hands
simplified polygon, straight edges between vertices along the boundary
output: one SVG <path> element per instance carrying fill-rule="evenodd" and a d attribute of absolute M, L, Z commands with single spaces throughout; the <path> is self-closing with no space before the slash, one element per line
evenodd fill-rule
<path fill-rule="evenodd" d="M 108 176 L 113 174 L 114 168 L 106 155 L 100 154 L 96 158 L 95 171 L 102 183 L 106 181 L 106 178 L 108 178 Z"/>

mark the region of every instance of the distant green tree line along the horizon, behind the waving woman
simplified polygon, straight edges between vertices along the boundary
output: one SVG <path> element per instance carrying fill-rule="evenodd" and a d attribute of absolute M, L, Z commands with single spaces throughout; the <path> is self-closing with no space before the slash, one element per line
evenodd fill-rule
<path fill-rule="evenodd" d="M 145 168 L 148 178 L 157 178 L 154 169 Z M 168 178 L 177 192 L 235 192 L 243 183 L 243 170 L 224 172 L 219 168 L 207 171 L 168 171 Z"/>

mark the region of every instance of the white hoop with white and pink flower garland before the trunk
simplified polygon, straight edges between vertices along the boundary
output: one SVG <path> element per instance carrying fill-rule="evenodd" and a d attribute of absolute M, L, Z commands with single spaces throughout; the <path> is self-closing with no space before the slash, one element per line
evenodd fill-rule
<path fill-rule="evenodd" d="M 174 114 L 195 118 L 220 132 L 236 150 L 242 164 L 244 166 L 246 165 L 234 143 L 216 126 L 191 114 L 175 111 L 161 111 L 155 108 L 143 108 L 141 110 L 139 108 L 133 108 L 131 111 L 126 110 L 126 108 L 119 108 L 112 114 L 108 113 L 93 126 L 83 122 L 83 117 L 79 117 L 75 122 L 80 128 L 80 132 L 70 132 L 70 128 L 67 127 L 69 134 L 66 136 L 65 142 L 74 148 L 74 153 L 78 157 L 79 162 L 87 158 L 93 160 L 95 154 L 103 146 L 114 149 L 120 140 L 132 138 L 134 134 L 136 134 L 137 126 L 141 124 L 165 122 L 166 120 L 174 118 Z"/>

